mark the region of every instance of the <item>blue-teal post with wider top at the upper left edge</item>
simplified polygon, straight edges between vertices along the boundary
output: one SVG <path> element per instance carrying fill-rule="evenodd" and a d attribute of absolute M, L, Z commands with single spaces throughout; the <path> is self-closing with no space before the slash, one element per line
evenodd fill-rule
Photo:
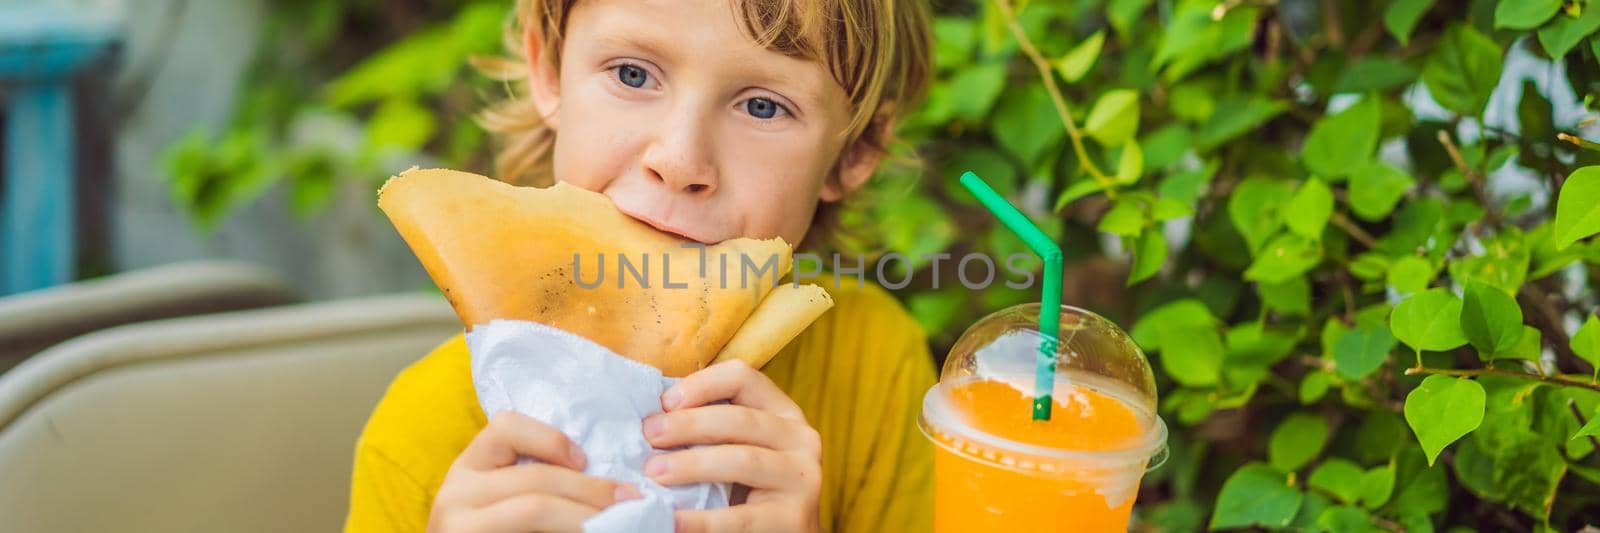
<path fill-rule="evenodd" d="M 72 82 L 117 40 L 115 24 L 82 8 L 0 5 L 0 295 L 67 283 L 77 272 Z"/>

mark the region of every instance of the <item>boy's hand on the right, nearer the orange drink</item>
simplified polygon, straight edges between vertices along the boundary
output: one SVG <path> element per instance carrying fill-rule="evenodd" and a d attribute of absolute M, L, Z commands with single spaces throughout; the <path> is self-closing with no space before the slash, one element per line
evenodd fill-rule
<path fill-rule="evenodd" d="M 731 405 L 707 405 L 731 400 Z M 661 395 L 666 413 L 645 418 L 656 448 L 706 445 L 651 458 L 662 485 L 726 482 L 750 488 L 742 504 L 678 511 L 678 531 L 819 531 L 822 439 L 805 413 L 742 360 L 707 367 Z"/>

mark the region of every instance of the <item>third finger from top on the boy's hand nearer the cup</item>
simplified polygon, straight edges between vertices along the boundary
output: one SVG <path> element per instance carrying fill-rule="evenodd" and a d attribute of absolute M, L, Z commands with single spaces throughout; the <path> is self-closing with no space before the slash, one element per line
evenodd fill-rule
<path fill-rule="evenodd" d="M 821 485 L 821 467 L 797 455 L 750 445 L 699 447 L 645 461 L 645 475 L 661 485 L 744 483 L 784 491 Z"/>

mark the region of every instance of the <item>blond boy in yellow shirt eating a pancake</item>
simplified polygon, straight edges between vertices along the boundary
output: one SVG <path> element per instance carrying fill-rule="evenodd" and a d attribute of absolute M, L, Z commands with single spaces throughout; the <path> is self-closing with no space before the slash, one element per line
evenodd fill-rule
<path fill-rule="evenodd" d="M 603 192 L 664 232 L 826 238 L 930 74 L 917 0 L 518 0 L 526 98 L 486 115 L 499 176 Z M 507 66 L 499 66 L 501 74 Z M 714 365 L 643 421 L 664 483 L 736 483 L 680 531 L 909 531 L 931 514 L 933 384 L 922 330 L 878 288 L 835 307 L 760 371 Z M 728 400 L 725 405 L 718 402 Z M 536 464 L 517 464 L 518 456 Z M 456 336 L 400 373 L 357 445 L 347 530 L 573 531 L 634 487 L 514 413 L 486 421 Z"/>

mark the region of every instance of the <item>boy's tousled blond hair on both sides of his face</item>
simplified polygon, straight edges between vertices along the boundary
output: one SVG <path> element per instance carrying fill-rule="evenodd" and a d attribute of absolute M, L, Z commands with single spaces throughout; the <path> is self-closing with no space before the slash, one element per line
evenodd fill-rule
<path fill-rule="evenodd" d="M 517 0 L 506 26 L 510 58 L 475 59 L 485 75 L 502 82 L 528 77 L 523 32 L 538 30 L 542 61 L 560 69 L 566 16 L 578 0 Z M 731 0 L 744 18 L 744 30 L 768 50 L 822 61 L 850 94 L 850 125 L 840 134 L 845 149 L 858 141 L 888 152 L 894 112 L 910 109 L 922 96 L 933 67 L 928 6 L 922 0 Z M 522 88 L 507 83 L 507 98 L 478 118 L 498 139 L 496 176 L 517 184 L 549 184 L 550 147 L 555 131 L 539 115 Z M 813 221 L 816 238 L 832 240 L 840 230 L 837 205 L 824 203 Z M 814 242 L 808 235 L 806 242 Z"/>

